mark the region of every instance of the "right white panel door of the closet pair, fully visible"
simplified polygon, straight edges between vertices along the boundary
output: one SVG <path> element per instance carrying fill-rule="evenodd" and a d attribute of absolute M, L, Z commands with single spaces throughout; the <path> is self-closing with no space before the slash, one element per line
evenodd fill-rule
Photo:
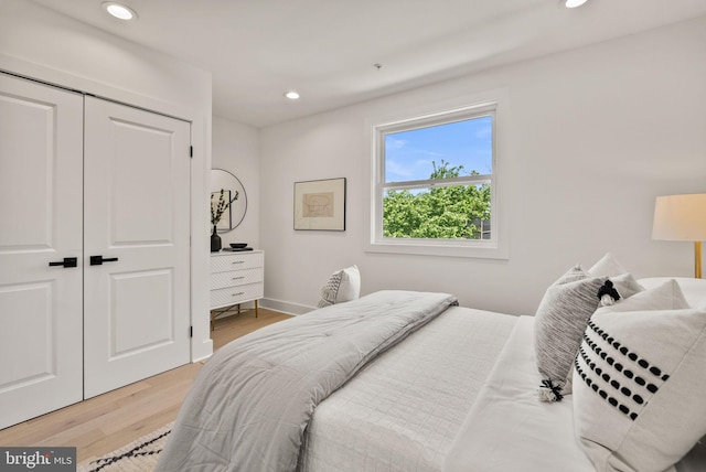
<path fill-rule="evenodd" d="M 190 135 L 86 97 L 86 398 L 190 362 Z"/>

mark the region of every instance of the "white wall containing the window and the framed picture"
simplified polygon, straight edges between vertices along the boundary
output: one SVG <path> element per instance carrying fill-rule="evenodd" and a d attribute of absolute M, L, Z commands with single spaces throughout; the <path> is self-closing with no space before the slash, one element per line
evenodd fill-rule
<path fill-rule="evenodd" d="M 693 275 L 693 246 L 651 239 L 654 197 L 706 192 L 706 18 L 514 64 L 261 130 L 265 304 L 303 312 L 331 271 L 357 264 L 364 293 L 447 291 L 461 304 L 534 313 L 571 265 L 612 251 L 637 277 Z M 510 259 L 366 254 L 371 117 L 505 87 Z M 306 99 L 306 98 L 304 98 Z M 292 184 L 347 178 L 347 229 L 295 232 Z"/>

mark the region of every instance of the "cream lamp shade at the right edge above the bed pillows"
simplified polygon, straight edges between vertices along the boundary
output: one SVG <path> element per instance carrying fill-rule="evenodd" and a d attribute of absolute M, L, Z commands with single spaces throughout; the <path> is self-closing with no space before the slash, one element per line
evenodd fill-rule
<path fill-rule="evenodd" d="M 706 240 L 706 193 L 657 196 L 652 238 Z"/>

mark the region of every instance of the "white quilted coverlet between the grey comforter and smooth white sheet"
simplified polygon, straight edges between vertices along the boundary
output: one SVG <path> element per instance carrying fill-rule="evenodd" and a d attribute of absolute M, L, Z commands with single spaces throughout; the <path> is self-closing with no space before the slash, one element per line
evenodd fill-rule
<path fill-rule="evenodd" d="M 517 320 L 447 310 L 317 407 L 299 470 L 440 471 Z"/>

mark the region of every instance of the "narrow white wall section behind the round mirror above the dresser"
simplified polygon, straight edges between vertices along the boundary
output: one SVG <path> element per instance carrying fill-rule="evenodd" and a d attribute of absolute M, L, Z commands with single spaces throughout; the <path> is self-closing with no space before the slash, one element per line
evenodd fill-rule
<path fill-rule="evenodd" d="M 238 178 L 247 193 L 247 212 L 240 225 L 222 233 L 223 246 L 228 243 L 259 243 L 259 132 L 256 128 L 213 117 L 213 169 L 223 169 Z"/>

